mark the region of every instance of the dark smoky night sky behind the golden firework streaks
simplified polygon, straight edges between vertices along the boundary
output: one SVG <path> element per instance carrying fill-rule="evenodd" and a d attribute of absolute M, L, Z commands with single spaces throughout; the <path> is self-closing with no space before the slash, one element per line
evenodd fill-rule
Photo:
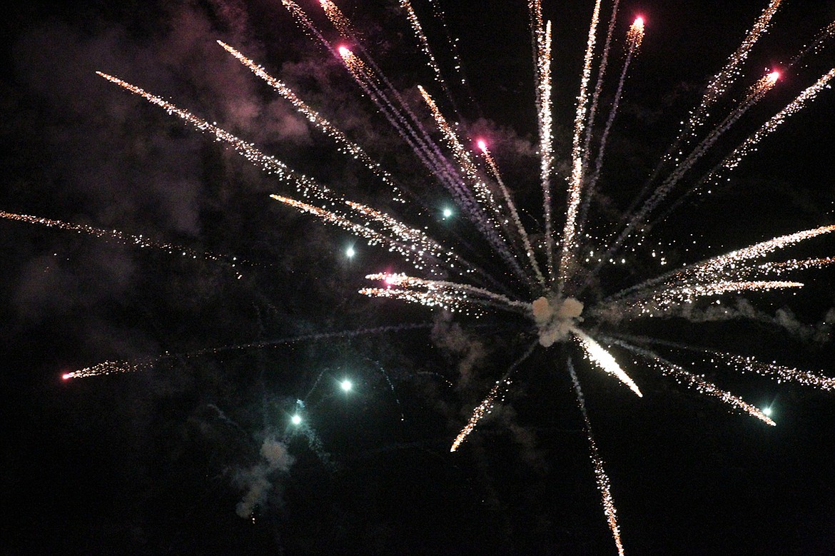
<path fill-rule="evenodd" d="M 300 4 L 331 33 L 316 3 Z M 432 74 L 397 3 L 372 4 L 339 3 L 392 83 L 422 110 L 414 85 L 432 85 Z M 452 89 L 463 129 L 488 137 L 525 224 L 541 230 L 526 7 L 438 4 L 460 38 L 468 87 Z M 591 4 L 544 2 L 554 20 L 558 169 L 567 165 Z M 647 33 L 591 212 L 595 234 L 623 215 L 706 79 L 766 2 L 727 4 L 620 3 L 625 22 L 647 19 Z M 739 83 L 780 67 L 835 19 L 832 0 L 784 4 Z M 450 70 L 443 28 L 429 3 L 414 5 Z M 364 275 L 407 267 L 277 205 L 268 195 L 290 194 L 286 184 L 94 73 L 112 73 L 216 121 L 349 198 L 394 206 L 501 272 L 472 226 L 440 218 L 448 195 L 281 3 L 37 2 L 4 18 L 0 210 L 247 262 L 231 268 L 0 220 L 0 553 L 615 553 L 564 366 L 566 354 L 576 358 L 573 348 L 534 352 L 507 402 L 450 454 L 471 409 L 524 351 L 529 326 L 501 314 L 450 320 L 423 306 L 359 296 Z M 215 39 L 285 79 L 415 199 L 398 209 Z M 621 53 L 619 40 L 615 72 Z M 833 53 L 830 45 L 787 71 L 699 169 L 832 68 Z M 730 109 L 743 91 L 737 84 L 717 110 Z M 680 264 L 832 224 L 833 106 L 832 91 L 824 91 L 714 195 L 671 213 L 638 253 L 625 255 L 627 270 L 605 272 L 595 291 L 665 270 L 648 255 L 657 245 Z M 357 249 L 352 260 L 348 245 Z M 832 246 L 824 237 L 775 260 L 832 255 Z M 669 318 L 625 329 L 835 376 L 835 273 L 797 276 L 807 282 L 797 294 L 721 298 L 737 311 L 755 307 L 762 317 L 754 321 Z M 402 324 L 417 327 L 374 332 Z M 189 355 L 291 338 L 301 339 Z M 173 355 L 139 372 L 60 378 L 101 361 L 163 354 Z M 687 352 L 676 357 L 693 361 Z M 643 399 L 585 363 L 579 372 L 627 553 L 835 553 L 832 392 L 697 367 L 772 407 L 772 428 L 620 358 Z M 338 384 L 345 377 L 353 383 L 348 393 Z M 305 421 L 293 427 L 300 409 Z M 247 508 L 251 518 L 241 518 Z"/>

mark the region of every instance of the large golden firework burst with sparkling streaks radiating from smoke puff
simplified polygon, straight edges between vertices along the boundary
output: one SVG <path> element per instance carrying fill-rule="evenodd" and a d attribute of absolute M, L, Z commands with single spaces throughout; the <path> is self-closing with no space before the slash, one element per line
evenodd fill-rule
<path fill-rule="evenodd" d="M 712 301 L 727 294 L 757 296 L 763 291 L 801 288 L 802 282 L 787 279 L 784 275 L 831 265 L 835 259 L 820 256 L 787 260 L 770 258 L 793 245 L 830 234 L 835 231 L 835 225 L 822 225 L 762 240 L 755 245 L 713 255 L 649 278 L 633 280 L 626 286 L 610 278 L 612 273 L 608 265 L 610 261 L 619 260 L 625 253 L 645 245 L 656 218 L 667 214 L 665 211 L 675 209 L 684 196 L 714 188 L 728 171 L 736 169 L 746 156 L 754 153 L 757 145 L 789 116 L 812 103 L 818 94 L 829 88 L 830 81 L 835 78 L 835 68 L 815 76 L 816 80 L 795 91 L 791 102 L 758 123 L 752 133 L 745 134 L 741 139 L 736 134 L 741 120 L 750 116 L 751 110 L 780 86 L 782 76 L 777 71 L 768 71 L 765 75 L 755 70 L 745 71 L 751 50 L 756 48 L 757 42 L 771 26 L 780 6 L 778 0 L 767 4 L 740 47 L 731 54 L 725 66 L 707 81 L 701 99 L 691 110 L 689 118 L 682 121 L 678 136 L 673 138 L 667 154 L 647 179 L 643 192 L 637 196 L 632 208 L 625 211 L 625 217 L 610 225 L 598 221 L 600 211 L 595 210 L 595 200 L 606 195 L 606 147 L 610 132 L 616 129 L 616 115 L 625 94 L 630 66 L 638 62 L 640 49 L 644 48 L 644 18 L 635 18 L 630 24 L 622 25 L 617 1 L 605 5 L 597 0 L 590 5 L 591 23 L 586 36 L 570 145 L 560 153 L 561 146 L 554 139 L 554 115 L 558 110 L 554 109 L 552 99 L 552 24 L 544 18 L 539 0 L 529 1 L 535 91 L 535 106 L 531 107 L 531 113 L 535 114 L 538 124 L 539 171 L 536 179 L 543 202 L 539 214 L 524 220 L 512 195 L 512 191 L 519 188 L 505 182 L 498 164 L 500 153 L 491 151 L 488 140 L 470 137 L 466 122 L 457 121 L 458 106 L 453 102 L 455 87 L 452 81 L 448 83 L 443 78 L 443 63 L 433 53 L 411 3 L 401 0 L 399 6 L 407 26 L 416 37 L 419 53 L 425 58 L 429 78 L 407 91 L 392 84 L 372 58 L 371 48 L 362 44 L 361 33 L 357 33 L 356 26 L 335 3 L 322 0 L 319 7 L 332 28 L 315 23 L 316 17 L 308 13 L 313 9 L 311 7 L 302 7 L 290 0 L 283 0 L 282 3 L 301 30 L 323 47 L 334 62 L 342 65 L 359 93 L 390 124 L 428 176 L 427 189 L 442 188 L 455 202 L 459 214 L 466 220 L 468 234 L 476 238 L 469 245 L 433 239 L 432 230 L 428 230 L 423 222 L 410 223 L 407 210 L 400 216 L 393 210 L 382 210 L 348 199 L 336 184 L 322 184 L 318 179 L 291 169 L 290 164 L 265 154 L 256 145 L 180 108 L 173 101 L 109 73 L 99 75 L 195 129 L 211 134 L 251 163 L 275 175 L 279 191 L 271 195 L 271 199 L 328 225 L 347 230 L 368 245 L 381 246 L 396 254 L 402 264 L 409 267 L 408 274 L 368 269 L 366 278 L 373 284 L 363 287 L 360 294 L 439 307 L 460 313 L 465 318 L 507 315 L 514 323 L 524 323 L 519 326 L 519 332 L 527 336 L 529 348 L 518 354 L 504 376 L 485 392 L 483 401 L 473 409 L 468 422 L 454 438 L 450 448 L 452 452 L 464 446 L 483 417 L 504 399 L 517 373 L 521 372 L 524 361 L 536 349 L 564 354 L 557 366 L 569 375 L 574 387 L 605 517 L 616 548 L 622 554 L 621 528 L 610 479 L 605 473 L 600 447 L 591 432 L 584 393 L 574 368 L 580 359 L 584 358 L 591 369 L 615 378 L 630 392 L 642 397 L 639 382 L 630 377 L 621 361 L 624 356 L 637 359 L 662 377 L 673 377 L 684 387 L 723 402 L 736 412 L 775 425 L 762 408 L 727 392 L 705 377 L 686 371 L 683 366 L 668 360 L 667 356 L 661 356 L 653 344 L 659 340 L 630 335 L 626 331 L 640 330 L 645 321 L 677 316 L 682 307 L 694 306 L 704 300 Z M 608 21 L 605 37 L 600 30 L 601 21 Z M 814 48 L 807 48 L 798 57 L 817 53 L 830 35 L 832 25 L 823 28 Z M 372 149 L 366 149 L 352 139 L 337 122 L 326 118 L 313 107 L 311 101 L 303 99 L 303 94 L 271 76 L 266 68 L 246 53 L 227 43 L 219 41 L 219 44 L 275 89 L 313 128 L 331 140 L 340 153 L 362 164 L 370 179 L 376 179 L 387 187 L 392 194 L 392 202 L 387 205 L 422 202 L 423 192 L 398 184 L 394 169 L 377 161 Z M 784 68 L 796 62 L 797 59 L 792 59 Z M 620 67 L 616 68 L 615 78 L 610 79 L 612 66 L 616 64 Z M 463 79 L 458 81 L 466 83 Z M 719 149 L 731 140 L 736 140 L 736 146 L 731 144 L 729 149 Z M 567 160 L 568 170 L 564 174 L 558 171 L 560 155 Z M 564 203 L 558 200 L 562 195 L 558 192 L 565 193 Z M 413 214 L 411 216 L 413 218 Z M 0 217 L 144 245 L 143 240 L 115 230 L 98 230 L 4 212 L 0 213 Z M 473 248 L 473 244 L 479 247 Z M 160 246 L 167 250 L 178 249 L 168 244 Z M 197 256 L 191 252 L 189 255 Z M 209 258 L 216 257 L 210 255 Z M 484 264 L 485 260 L 489 261 L 488 265 Z M 626 264 L 626 259 L 622 260 Z M 612 286 L 608 286 L 610 282 Z M 235 349 L 258 346 L 261 344 L 235 346 Z M 681 349 L 692 348 L 681 346 Z M 200 356 L 203 353 L 187 355 Z M 712 361 L 740 372 L 755 372 L 777 377 L 780 381 L 833 389 L 832 378 L 816 372 L 763 363 L 741 354 L 703 353 Z M 165 354 L 155 361 L 169 357 Z M 68 372 L 64 377 L 137 371 L 152 366 L 155 361 L 107 361 Z"/>

